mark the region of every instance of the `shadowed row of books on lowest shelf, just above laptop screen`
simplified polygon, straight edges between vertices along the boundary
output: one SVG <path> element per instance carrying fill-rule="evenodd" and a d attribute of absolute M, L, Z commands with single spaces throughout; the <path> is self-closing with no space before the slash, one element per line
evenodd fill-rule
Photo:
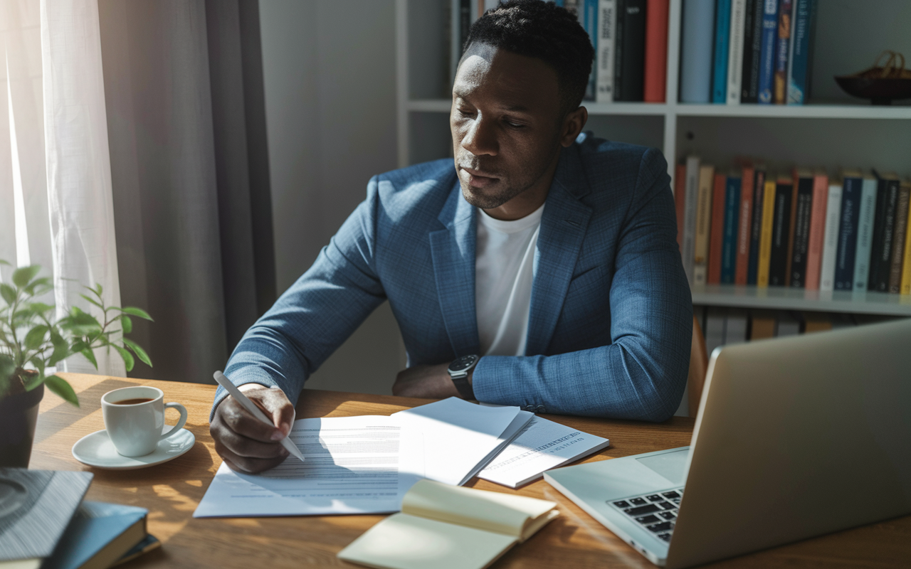
<path fill-rule="evenodd" d="M 839 330 L 892 318 L 837 312 L 747 310 L 715 306 L 694 307 L 694 314 L 699 320 L 705 338 L 705 349 L 710 356 L 718 346 Z"/>

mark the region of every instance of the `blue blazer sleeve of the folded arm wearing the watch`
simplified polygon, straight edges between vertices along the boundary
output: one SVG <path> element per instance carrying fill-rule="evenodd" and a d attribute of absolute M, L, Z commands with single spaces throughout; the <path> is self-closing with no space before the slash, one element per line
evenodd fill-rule
<path fill-rule="evenodd" d="M 666 172 L 660 152 L 642 155 L 610 286 L 611 343 L 481 358 L 472 379 L 479 401 L 655 422 L 677 411 L 690 365 L 692 300 Z"/>

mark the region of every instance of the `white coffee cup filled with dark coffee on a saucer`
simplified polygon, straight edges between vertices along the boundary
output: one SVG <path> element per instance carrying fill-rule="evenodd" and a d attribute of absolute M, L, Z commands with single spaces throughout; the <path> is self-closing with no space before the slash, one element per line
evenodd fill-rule
<path fill-rule="evenodd" d="M 101 412 L 105 418 L 107 436 L 119 454 L 144 456 L 154 452 L 159 441 L 176 434 L 187 422 L 187 409 L 180 403 L 165 403 L 164 391 L 157 387 L 135 386 L 107 391 L 101 396 Z M 125 404 L 123 401 L 148 400 Z M 165 426 L 165 410 L 176 409 L 180 420 L 169 432 Z"/>

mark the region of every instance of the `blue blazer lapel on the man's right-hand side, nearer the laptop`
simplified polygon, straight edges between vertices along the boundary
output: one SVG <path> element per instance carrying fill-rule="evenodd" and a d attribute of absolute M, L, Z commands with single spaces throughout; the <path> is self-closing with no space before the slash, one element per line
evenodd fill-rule
<path fill-rule="evenodd" d="M 589 193 L 578 147 L 563 149 L 541 217 L 535 252 L 526 355 L 545 353 L 557 328 L 591 208 L 578 198 Z"/>

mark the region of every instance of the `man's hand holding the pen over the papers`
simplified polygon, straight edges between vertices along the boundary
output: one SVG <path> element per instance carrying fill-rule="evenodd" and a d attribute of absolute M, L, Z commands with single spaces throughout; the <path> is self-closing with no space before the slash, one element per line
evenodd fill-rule
<path fill-rule="evenodd" d="M 291 432 L 294 407 L 278 388 L 247 383 L 239 389 L 275 426 L 261 422 L 229 395 L 215 409 L 209 425 L 215 452 L 231 470 L 248 473 L 269 470 L 288 456 L 280 441 Z"/>

